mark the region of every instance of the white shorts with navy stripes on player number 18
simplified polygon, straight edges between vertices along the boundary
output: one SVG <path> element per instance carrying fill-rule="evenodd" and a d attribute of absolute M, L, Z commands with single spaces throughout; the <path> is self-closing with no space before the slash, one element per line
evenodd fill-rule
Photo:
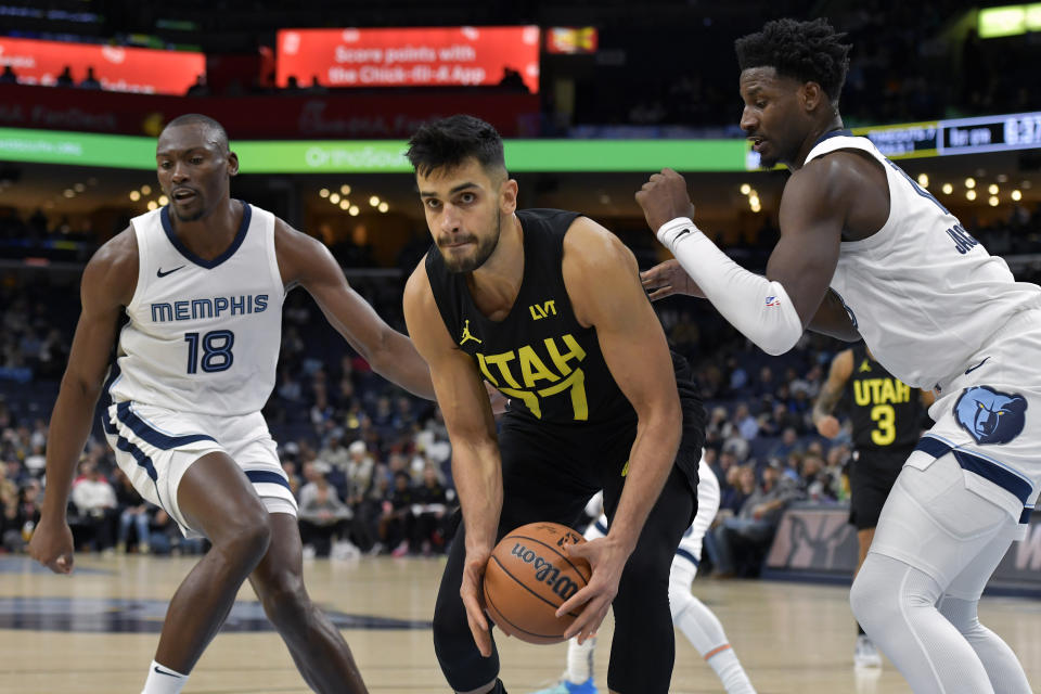
<path fill-rule="evenodd" d="M 214 416 L 124 401 L 112 404 L 102 423 L 134 489 L 170 514 L 187 537 L 202 532 L 181 514 L 177 488 L 192 463 L 215 451 L 239 464 L 269 513 L 296 515 L 296 499 L 259 412 Z"/>

